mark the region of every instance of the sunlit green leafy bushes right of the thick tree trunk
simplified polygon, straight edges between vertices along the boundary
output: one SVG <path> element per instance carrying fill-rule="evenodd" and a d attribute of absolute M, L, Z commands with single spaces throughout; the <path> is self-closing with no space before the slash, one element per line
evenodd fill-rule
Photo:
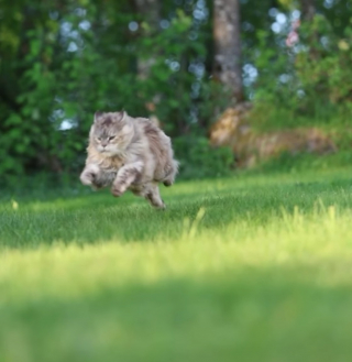
<path fill-rule="evenodd" d="M 267 48 L 271 36 L 258 31 L 260 70 L 253 122 L 262 130 L 322 125 L 342 129 L 352 109 L 352 28 L 343 37 L 322 15 L 298 29 L 299 42 L 285 44 L 287 33 L 277 35 L 280 53 Z"/>

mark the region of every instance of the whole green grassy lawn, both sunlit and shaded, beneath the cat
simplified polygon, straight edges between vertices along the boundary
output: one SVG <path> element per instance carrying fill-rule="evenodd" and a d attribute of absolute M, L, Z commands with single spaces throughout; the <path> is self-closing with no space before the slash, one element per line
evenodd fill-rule
<path fill-rule="evenodd" d="M 1 195 L 1 362 L 352 359 L 352 168 Z"/>

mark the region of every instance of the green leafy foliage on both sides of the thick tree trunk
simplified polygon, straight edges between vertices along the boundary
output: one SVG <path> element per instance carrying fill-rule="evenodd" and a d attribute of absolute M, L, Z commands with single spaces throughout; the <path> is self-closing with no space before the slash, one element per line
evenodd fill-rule
<path fill-rule="evenodd" d="M 275 12 L 289 20 L 299 3 L 241 2 L 242 63 L 260 75 L 253 86 L 244 72 L 245 92 L 254 96 L 263 129 L 349 120 L 351 0 L 316 3 L 320 15 L 301 24 L 299 43 L 287 47 L 289 22 L 278 34 L 271 28 Z M 167 134 L 195 147 L 183 156 L 186 175 L 196 174 L 195 162 L 212 165 L 197 168 L 198 176 L 218 174 L 213 164 L 228 169 L 230 162 L 216 161 L 222 156 L 194 136 L 186 141 L 207 134 L 229 105 L 229 95 L 211 79 L 212 1 L 157 6 L 161 18 L 153 22 L 132 0 L 1 1 L 2 183 L 38 172 L 76 175 L 94 112 L 122 108 L 131 116 L 157 116 Z M 209 162 L 193 156 L 199 149 Z"/>

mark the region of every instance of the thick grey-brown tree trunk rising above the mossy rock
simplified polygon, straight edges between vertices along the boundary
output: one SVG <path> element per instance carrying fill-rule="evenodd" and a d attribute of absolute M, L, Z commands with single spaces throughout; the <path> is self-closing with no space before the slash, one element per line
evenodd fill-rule
<path fill-rule="evenodd" d="M 243 100 L 240 35 L 240 0 L 215 0 L 213 77 L 231 92 L 233 103 Z"/>

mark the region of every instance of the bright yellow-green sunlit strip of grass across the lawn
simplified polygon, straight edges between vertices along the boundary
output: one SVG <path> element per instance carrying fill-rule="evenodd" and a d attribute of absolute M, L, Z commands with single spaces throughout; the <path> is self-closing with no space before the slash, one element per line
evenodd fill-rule
<path fill-rule="evenodd" d="M 221 232 L 201 230 L 200 210 L 185 221 L 179 238 L 157 242 L 65 245 L 37 250 L 4 250 L 0 254 L 0 304 L 46 297 L 75 299 L 102 289 L 148 285 L 168 279 L 237 278 L 253 271 L 274 270 L 314 284 L 352 284 L 350 211 L 334 207 L 312 215 L 294 215 L 253 227 L 250 220 L 231 223 Z M 287 272 L 288 271 L 288 272 Z"/>

